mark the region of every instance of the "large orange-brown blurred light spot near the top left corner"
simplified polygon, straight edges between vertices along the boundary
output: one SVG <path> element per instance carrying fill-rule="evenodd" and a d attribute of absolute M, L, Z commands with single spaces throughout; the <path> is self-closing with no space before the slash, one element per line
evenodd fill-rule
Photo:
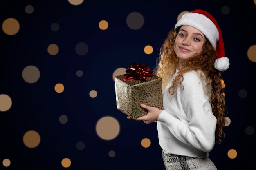
<path fill-rule="evenodd" d="M 15 35 L 20 30 L 20 24 L 14 18 L 7 18 L 2 24 L 2 29 L 7 35 Z"/>

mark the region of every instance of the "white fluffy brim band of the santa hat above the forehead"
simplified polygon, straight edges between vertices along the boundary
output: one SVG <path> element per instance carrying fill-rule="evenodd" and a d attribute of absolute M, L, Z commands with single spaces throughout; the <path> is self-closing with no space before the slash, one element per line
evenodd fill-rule
<path fill-rule="evenodd" d="M 182 18 L 175 24 L 175 28 L 182 25 L 193 26 L 194 28 L 201 31 L 211 42 L 213 48 L 219 40 L 219 31 L 215 24 L 207 18 L 205 15 L 200 13 L 185 13 Z"/>

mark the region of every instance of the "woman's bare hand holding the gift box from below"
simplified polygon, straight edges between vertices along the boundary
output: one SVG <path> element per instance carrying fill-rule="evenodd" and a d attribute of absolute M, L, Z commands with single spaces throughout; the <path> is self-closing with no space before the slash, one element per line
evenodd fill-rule
<path fill-rule="evenodd" d="M 159 108 L 156 107 L 150 107 L 147 106 L 146 104 L 140 104 L 140 106 L 146 110 L 148 110 L 148 113 L 144 116 L 141 116 L 137 119 L 134 119 L 136 121 L 141 121 L 143 120 L 145 124 L 150 124 L 154 121 L 157 121 L 158 116 L 162 112 Z M 131 119 L 130 117 L 127 117 L 127 119 Z"/>

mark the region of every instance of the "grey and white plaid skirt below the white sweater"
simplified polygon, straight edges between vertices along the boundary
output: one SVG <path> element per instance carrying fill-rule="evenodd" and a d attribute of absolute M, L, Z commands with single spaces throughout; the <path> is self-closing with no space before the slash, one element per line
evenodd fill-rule
<path fill-rule="evenodd" d="M 166 170 L 217 170 L 214 163 L 207 158 L 193 158 L 170 154 L 162 149 Z"/>

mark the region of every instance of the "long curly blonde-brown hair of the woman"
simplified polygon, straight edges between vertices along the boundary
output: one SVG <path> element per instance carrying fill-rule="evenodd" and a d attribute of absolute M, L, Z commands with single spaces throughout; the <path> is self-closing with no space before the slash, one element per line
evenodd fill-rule
<path fill-rule="evenodd" d="M 177 64 L 179 62 L 177 55 L 174 52 L 173 44 L 181 26 L 176 29 L 171 29 L 169 31 L 164 44 L 160 48 L 159 58 L 157 66 L 154 70 L 155 75 L 162 78 L 163 90 L 166 88 L 168 82 L 170 81 L 173 74 L 176 72 Z M 169 88 L 173 88 L 172 95 L 175 96 L 177 92 L 178 84 L 182 84 L 183 74 L 189 71 L 196 71 L 200 76 L 202 82 L 204 82 L 204 93 L 209 96 L 209 102 L 211 103 L 211 108 L 213 115 L 217 119 L 216 131 L 215 131 L 215 141 L 216 143 L 221 143 L 222 139 L 225 137 L 223 132 L 223 127 L 225 124 L 225 96 L 224 89 L 222 88 L 223 78 L 220 71 L 216 70 L 213 66 L 216 60 L 216 52 L 213 46 L 206 38 L 204 42 L 202 52 L 189 57 L 184 63 L 184 69 L 177 72 L 175 79 L 173 79 L 173 84 Z"/>

